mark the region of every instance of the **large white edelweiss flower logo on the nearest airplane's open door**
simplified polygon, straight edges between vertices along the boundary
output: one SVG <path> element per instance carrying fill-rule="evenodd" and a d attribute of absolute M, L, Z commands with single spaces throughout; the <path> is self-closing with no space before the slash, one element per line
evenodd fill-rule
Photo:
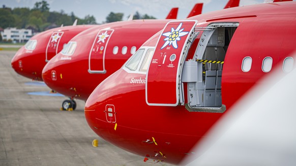
<path fill-rule="evenodd" d="M 178 48 L 177 41 L 180 41 L 181 40 L 180 37 L 185 36 L 189 33 L 188 31 L 183 31 L 184 28 L 180 29 L 181 26 L 182 26 L 182 22 L 179 24 L 179 26 L 176 29 L 171 28 L 170 32 L 165 32 L 164 34 L 162 34 L 167 38 L 164 39 L 164 41 L 166 42 L 160 49 L 163 49 L 167 45 L 170 46 L 171 44 L 173 45 L 173 48 Z"/>

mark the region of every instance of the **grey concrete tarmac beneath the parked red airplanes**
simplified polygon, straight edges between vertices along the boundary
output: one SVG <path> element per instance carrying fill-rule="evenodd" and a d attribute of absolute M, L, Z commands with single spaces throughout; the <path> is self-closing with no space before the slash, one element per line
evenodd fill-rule
<path fill-rule="evenodd" d="M 85 120 L 84 101 L 60 111 L 67 97 L 28 94 L 50 89 L 18 75 L 14 54 L 0 51 L 0 165 L 169 165 L 143 162 L 98 137 Z"/>

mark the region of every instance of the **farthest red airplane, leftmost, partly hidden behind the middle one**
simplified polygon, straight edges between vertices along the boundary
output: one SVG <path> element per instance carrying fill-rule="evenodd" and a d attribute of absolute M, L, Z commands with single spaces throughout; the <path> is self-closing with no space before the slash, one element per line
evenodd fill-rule
<path fill-rule="evenodd" d="M 12 68 L 24 77 L 42 81 L 46 62 L 63 49 L 70 39 L 94 25 L 64 26 L 46 30 L 33 36 L 14 55 Z"/>

